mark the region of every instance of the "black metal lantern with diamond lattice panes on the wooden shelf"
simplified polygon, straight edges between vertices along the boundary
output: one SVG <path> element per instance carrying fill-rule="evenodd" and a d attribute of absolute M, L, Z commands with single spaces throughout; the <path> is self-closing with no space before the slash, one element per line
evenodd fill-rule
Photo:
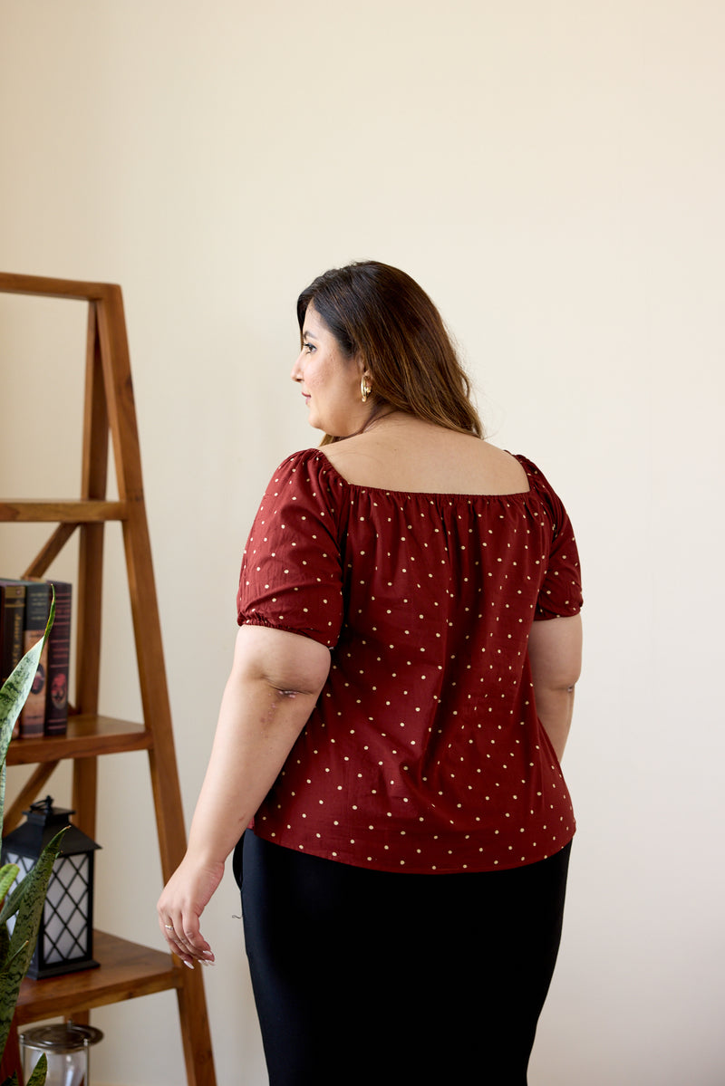
<path fill-rule="evenodd" d="M 27 975 L 34 980 L 92 969 L 93 961 L 93 853 L 100 845 L 68 823 L 75 811 L 53 807 L 50 796 L 23 812 L 27 822 L 4 838 L 3 863 L 16 863 L 18 880 L 38 861 L 45 846 L 68 826 L 53 864 L 40 919 L 38 943 Z M 8 926 L 12 930 L 14 918 Z"/>

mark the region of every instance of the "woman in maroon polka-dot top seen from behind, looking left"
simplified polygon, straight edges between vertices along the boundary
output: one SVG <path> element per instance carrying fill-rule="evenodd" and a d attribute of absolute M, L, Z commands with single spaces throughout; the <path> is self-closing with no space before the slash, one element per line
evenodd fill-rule
<path fill-rule="evenodd" d="M 213 960 L 199 918 L 235 849 L 272 1086 L 522 1086 L 574 834 L 571 525 L 530 462 L 482 440 L 409 276 L 328 272 L 298 317 L 324 451 L 285 460 L 252 527 L 161 930 Z"/>

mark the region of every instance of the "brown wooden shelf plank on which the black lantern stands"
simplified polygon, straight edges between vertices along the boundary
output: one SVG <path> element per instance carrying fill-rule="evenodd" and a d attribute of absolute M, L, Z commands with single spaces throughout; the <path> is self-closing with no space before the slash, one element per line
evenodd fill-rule
<path fill-rule="evenodd" d="M 182 965 L 175 965 L 171 955 L 105 932 L 93 933 L 93 957 L 100 963 L 98 969 L 43 981 L 23 981 L 17 1025 L 61 1014 L 72 1016 L 93 1007 L 179 988 L 183 984 Z"/>

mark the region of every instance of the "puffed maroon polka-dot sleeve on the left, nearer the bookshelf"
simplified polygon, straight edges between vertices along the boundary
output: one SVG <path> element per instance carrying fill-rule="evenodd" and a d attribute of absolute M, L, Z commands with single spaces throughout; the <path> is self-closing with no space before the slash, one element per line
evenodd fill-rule
<path fill-rule="evenodd" d="M 249 533 L 237 594 L 239 626 L 267 626 L 333 648 L 342 624 L 335 480 L 316 450 L 275 471 Z"/>

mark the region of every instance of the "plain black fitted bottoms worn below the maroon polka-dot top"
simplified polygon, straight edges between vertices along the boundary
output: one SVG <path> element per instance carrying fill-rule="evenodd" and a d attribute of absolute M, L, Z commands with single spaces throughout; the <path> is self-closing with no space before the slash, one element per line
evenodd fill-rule
<path fill-rule="evenodd" d="M 270 1086 L 525 1086 L 570 849 L 398 874 L 248 831 L 235 874 Z"/>

